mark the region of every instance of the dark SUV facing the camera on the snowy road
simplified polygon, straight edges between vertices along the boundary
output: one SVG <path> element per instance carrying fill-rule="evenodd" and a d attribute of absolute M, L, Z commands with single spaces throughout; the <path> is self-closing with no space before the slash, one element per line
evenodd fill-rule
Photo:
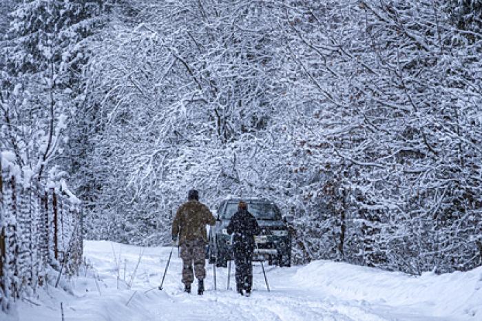
<path fill-rule="evenodd" d="M 261 234 L 255 236 L 253 260 L 267 260 L 269 265 L 291 266 L 291 229 L 289 224 L 293 216 L 282 216 L 280 209 L 264 198 L 242 199 L 248 204 L 248 211 L 255 216 L 261 227 Z M 227 226 L 233 214 L 238 210 L 239 198 L 223 200 L 218 207 L 217 222 L 209 228 L 207 258 L 218 267 L 227 267 L 228 260 L 233 260 L 231 236 Z"/>

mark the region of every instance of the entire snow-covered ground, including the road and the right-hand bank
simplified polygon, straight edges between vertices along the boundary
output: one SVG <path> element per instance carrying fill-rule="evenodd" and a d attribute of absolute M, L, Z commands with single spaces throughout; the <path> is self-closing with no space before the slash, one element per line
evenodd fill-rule
<path fill-rule="evenodd" d="M 329 261 L 292 268 L 253 269 L 253 295 L 227 290 L 228 270 L 207 266 L 204 296 L 182 292 L 181 260 L 174 251 L 164 290 L 157 289 L 169 247 L 85 242 L 92 269 L 38 298 L 17 302 L 1 320 L 482 320 L 482 267 L 421 277 Z M 139 257 L 140 263 L 138 264 Z M 136 269 L 136 265 L 138 267 Z M 134 275 L 134 271 L 135 275 Z M 234 272 L 234 267 L 231 267 Z M 129 289 L 129 285 L 132 287 Z M 151 290 L 151 291 L 149 291 Z M 196 281 L 193 293 L 196 293 Z"/>

